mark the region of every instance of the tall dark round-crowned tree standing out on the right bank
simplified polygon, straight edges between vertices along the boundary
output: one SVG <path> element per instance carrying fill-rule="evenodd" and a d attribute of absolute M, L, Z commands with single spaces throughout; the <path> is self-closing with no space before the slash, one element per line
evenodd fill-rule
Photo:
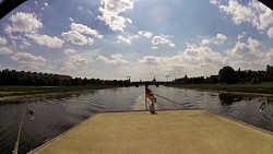
<path fill-rule="evenodd" d="M 237 74 L 232 67 L 224 67 L 218 71 L 219 82 L 233 84 L 237 82 Z"/>

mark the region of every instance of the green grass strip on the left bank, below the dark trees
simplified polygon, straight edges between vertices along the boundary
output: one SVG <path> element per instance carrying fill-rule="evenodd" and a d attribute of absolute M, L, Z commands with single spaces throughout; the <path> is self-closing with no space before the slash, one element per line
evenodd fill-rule
<path fill-rule="evenodd" d="M 110 88 L 110 87 L 117 87 L 117 86 L 109 86 L 109 85 L 103 85 L 103 86 L 0 86 L 0 97 L 93 91 L 93 90 L 102 90 L 102 88 Z"/>

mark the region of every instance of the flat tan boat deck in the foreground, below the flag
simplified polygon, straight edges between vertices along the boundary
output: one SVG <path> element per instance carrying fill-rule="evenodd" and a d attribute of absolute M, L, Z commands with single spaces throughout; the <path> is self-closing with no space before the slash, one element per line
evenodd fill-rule
<path fill-rule="evenodd" d="M 97 114 L 35 154 L 272 154 L 273 135 L 205 110 Z"/>

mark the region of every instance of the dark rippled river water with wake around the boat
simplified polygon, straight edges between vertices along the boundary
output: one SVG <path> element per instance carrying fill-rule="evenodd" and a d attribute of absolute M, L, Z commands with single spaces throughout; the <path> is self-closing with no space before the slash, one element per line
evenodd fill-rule
<path fill-rule="evenodd" d="M 157 95 L 156 109 L 202 108 L 261 129 L 273 131 L 273 98 L 150 86 Z M 261 104 L 266 102 L 264 106 Z M 144 86 L 119 87 L 0 102 L 0 153 L 11 154 L 26 105 L 35 110 L 34 120 L 25 114 L 19 153 L 26 153 L 99 111 L 144 110 Z"/>

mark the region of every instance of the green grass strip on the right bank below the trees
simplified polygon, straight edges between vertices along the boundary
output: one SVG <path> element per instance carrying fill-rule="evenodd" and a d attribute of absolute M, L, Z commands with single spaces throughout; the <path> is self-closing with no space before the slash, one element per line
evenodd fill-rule
<path fill-rule="evenodd" d="M 226 92 L 273 94 L 273 82 L 263 82 L 260 84 L 181 84 L 173 85 L 182 88 L 213 90 Z"/>

